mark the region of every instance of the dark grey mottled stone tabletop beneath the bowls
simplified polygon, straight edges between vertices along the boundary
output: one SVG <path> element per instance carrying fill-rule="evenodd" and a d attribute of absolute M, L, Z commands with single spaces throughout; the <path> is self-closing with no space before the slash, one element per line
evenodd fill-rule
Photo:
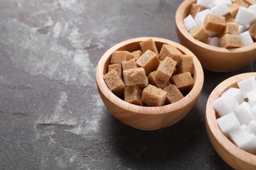
<path fill-rule="evenodd" d="M 205 105 L 231 73 L 205 70 L 200 99 L 181 122 L 141 131 L 116 120 L 95 82 L 117 42 L 179 42 L 178 0 L 0 0 L 0 169 L 231 169 L 205 129 Z"/>

